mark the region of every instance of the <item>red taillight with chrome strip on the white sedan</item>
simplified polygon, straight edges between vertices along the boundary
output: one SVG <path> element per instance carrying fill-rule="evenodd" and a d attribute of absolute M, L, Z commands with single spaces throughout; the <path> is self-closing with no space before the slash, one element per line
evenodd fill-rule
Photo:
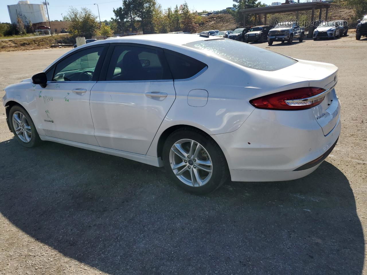
<path fill-rule="evenodd" d="M 252 106 L 270 110 L 304 110 L 319 105 L 325 90 L 316 87 L 291 89 L 250 100 Z"/>

